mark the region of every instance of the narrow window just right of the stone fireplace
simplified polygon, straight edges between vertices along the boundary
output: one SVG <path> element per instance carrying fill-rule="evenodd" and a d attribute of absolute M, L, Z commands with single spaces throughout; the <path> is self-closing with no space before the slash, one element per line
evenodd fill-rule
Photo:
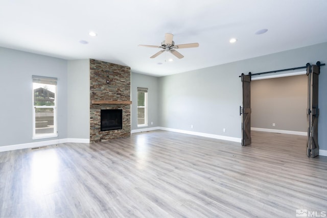
<path fill-rule="evenodd" d="M 148 126 L 148 88 L 137 87 L 137 127 Z"/>

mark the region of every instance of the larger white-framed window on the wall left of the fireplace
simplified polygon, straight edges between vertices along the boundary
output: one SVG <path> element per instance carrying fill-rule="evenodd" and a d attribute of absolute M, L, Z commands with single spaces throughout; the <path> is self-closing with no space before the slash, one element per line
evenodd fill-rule
<path fill-rule="evenodd" d="M 33 139 L 56 137 L 57 79 L 32 76 Z"/>

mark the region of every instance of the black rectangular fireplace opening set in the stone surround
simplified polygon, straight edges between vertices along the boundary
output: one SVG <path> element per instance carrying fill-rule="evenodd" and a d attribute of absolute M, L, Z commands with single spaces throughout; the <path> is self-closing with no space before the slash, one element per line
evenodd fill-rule
<path fill-rule="evenodd" d="M 123 129 L 123 110 L 101 110 L 101 131 Z"/>

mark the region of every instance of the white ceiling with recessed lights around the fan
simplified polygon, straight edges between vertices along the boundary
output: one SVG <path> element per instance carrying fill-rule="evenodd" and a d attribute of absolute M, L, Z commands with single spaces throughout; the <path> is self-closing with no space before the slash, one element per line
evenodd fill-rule
<path fill-rule="evenodd" d="M 2 0 L 0 46 L 164 76 L 326 42 L 326 21 L 326 0 Z M 183 59 L 138 47 L 161 45 L 165 33 L 200 46 L 179 49 Z"/>

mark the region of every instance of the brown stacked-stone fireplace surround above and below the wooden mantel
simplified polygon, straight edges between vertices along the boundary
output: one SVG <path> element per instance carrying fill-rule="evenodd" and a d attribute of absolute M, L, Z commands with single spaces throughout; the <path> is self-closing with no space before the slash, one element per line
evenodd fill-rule
<path fill-rule="evenodd" d="M 130 104 L 92 104 L 92 101 L 130 101 L 130 78 L 130 67 L 90 59 L 90 142 L 130 135 Z M 123 129 L 101 132 L 101 109 L 123 109 Z"/>

